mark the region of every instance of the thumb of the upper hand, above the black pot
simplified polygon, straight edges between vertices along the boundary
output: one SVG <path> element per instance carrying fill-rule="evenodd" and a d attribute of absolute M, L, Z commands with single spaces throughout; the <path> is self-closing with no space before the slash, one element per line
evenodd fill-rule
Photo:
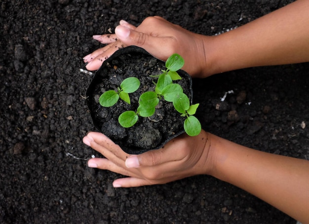
<path fill-rule="evenodd" d="M 148 42 L 149 36 L 137 32 L 124 26 L 117 26 L 115 29 L 116 36 L 126 45 L 135 45 L 143 47 Z"/>

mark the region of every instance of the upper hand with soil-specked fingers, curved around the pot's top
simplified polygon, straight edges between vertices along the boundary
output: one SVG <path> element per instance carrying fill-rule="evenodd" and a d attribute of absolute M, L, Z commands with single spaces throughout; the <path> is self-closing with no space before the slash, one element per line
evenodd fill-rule
<path fill-rule="evenodd" d="M 178 53 L 185 59 L 183 70 L 187 73 L 193 77 L 202 77 L 202 73 L 205 73 L 207 61 L 204 45 L 205 39 L 211 37 L 194 34 L 158 16 L 146 18 L 138 27 L 124 20 L 119 24 L 113 35 L 93 36 L 108 45 L 83 58 L 84 62 L 88 63 L 88 70 L 99 69 L 103 61 L 116 50 L 136 45 L 163 61 L 173 53 Z"/>

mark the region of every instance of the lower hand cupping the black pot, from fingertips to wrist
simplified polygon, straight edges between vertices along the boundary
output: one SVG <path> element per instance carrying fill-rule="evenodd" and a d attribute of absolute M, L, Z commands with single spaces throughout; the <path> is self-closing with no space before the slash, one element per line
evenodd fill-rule
<path fill-rule="evenodd" d="M 195 137 L 182 134 L 161 149 L 139 155 L 125 153 L 112 140 L 98 132 L 88 133 L 83 142 L 106 157 L 89 159 L 89 167 L 128 176 L 115 180 L 114 187 L 165 184 L 189 176 L 207 174 L 210 170 L 210 140 L 203 130 Z"/>

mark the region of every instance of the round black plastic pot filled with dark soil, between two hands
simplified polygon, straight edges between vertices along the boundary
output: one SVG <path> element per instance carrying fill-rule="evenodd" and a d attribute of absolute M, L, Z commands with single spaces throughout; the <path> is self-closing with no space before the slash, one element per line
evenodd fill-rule
<path fill-rule="evenodd" d="M 152 117 L 139 117 L 138 122 L 130 128 L 123 128 L 118 123 L 120 113 L 136 111 L 139 96 L 143 92 L 154 90 L 153 81 L 156 82 L 156 79 L 150 75 L 160 74 L 161 69 L 165 69 L 165 62 L 154 58 L 140 47 L 129 46 L 117 50 L 104 61 L 87 89 L 87 105 L 94 126 L 127 153 L 139 154 L 160 149 L 168 141 L 184 133 L 185 118 L 175 111 L 172 103 L 163 99 Z M 174 82 L 183 87 L 184 93 L 192 101 L 192 79 L 183 70 L 178 73 L 182 79 Z M 123 79 L 130 76 L 141 81 L 139 89 L 129 94 L 131 104 L 119 99 L 118 103 L 110 108 L 102 107 L 99 104 L 100 95 L 107 90 L 116 89 Z"/>

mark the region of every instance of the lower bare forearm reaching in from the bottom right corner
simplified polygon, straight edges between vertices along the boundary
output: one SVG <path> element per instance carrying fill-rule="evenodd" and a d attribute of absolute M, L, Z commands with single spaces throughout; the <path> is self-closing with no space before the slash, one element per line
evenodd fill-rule
<path fill-rule="evenodd" d="M 270 154 L 211 135 L 210 175 L 309 223 L 309 161 Z"/>

